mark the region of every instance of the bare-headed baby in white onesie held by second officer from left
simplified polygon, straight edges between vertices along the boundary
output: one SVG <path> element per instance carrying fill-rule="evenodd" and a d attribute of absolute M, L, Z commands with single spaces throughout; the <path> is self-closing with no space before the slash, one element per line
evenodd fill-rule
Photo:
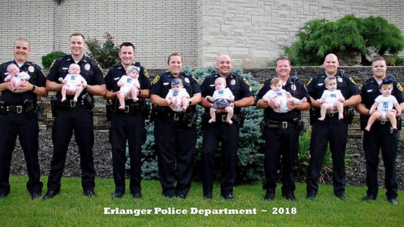
<path fill-rule="evenodd" d="M 86 80 L 80 75 L 80 66 L 78 64 L 69 65 L 69 74 L 66 77 L 59 78 L 59 81 L 64 84 L 62 86 L 62 102 L 66 100 L 66 91 L 70 90 L 72 92 L 76 92 L 74 95 L 74 101 L 77 102 L 77 98 L 83 90 L 84 86 L 87 86 Z"/>

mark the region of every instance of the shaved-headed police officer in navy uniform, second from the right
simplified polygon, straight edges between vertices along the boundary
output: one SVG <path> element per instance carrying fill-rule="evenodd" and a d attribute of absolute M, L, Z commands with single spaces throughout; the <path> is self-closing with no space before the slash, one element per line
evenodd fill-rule
<path fill-rule="evenodd" d="M 316 101 L 320 99 L 324 90 L 326 90 L 324 80 L 327 77 L 337 78 L 337 89 L 341 90 L 345 98 L 343 102 L 344 109 L 356 105 L 360 102 L 360 91 L 352 78 L 341 75 L 337 72 L 339 66 L 338 58 L 334 54 L 325 57 L 325 73 L 314 76 L 307 84 L 307 92 L 311 98 L 311 107 L 314 108 L 314 124 L 312 126 L 310 138 L 310 163 L 307 168 L 307 199 L 313 200 L 318 191 L 318 177 L 323 165 L 324 156 L 327 150 L 327 144 L 330 142 L 330 151 L 332 157 L 332 183 L 334 185 L 334 194 L 341 200 L 345 200 L 345 148 L 348 136 L 347 114 L 339 120 L 338 114 L 327 111 L 324 121 L 318 120 L 320 117 L 320 104 Z M 335 107 L 334 111 L 337 111 Z"/>

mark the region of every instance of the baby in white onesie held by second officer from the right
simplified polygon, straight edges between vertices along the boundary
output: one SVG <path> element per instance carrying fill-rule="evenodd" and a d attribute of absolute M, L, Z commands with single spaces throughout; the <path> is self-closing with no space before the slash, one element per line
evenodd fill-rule
<path fill-rule="evenodd" d="M 328 90 L 324 90 L 323 95 L 316 101 L 321 104 L 320 115 L 318 120 L 323 121 L 326 118 L 326 112 L 328 109 L 334 109 L 336 106 L 338 109 L 338 119 L 344 118 L 344 106 L 342 104 L 345 101 L 341 90 L 337 90 L 337 78 L 327 77 L 324 80 L 324 84 Z"/>

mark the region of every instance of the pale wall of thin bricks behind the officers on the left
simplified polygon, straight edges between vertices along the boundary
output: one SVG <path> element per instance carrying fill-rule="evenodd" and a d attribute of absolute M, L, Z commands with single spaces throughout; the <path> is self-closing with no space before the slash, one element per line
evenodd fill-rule
<path fill-rule="evenodd" d="M 0 50 L 2 62 L 11 59 L 10 47 L 18 37 L 35 41 L 30 59 L 40 63 L 40 57 L 52 50 L 68 53 L 68 38 L 73 32 L 81 32 L 86 38 L 101 38 L 110 32 L 116 44 L 133 42 L 136 61 L 148 68 L 166 67 L 166 58 L 175 51 L 183 55 L 184 63 L 197 63 L 194 0 L 66 0 L 60 6 L 53 0 L 3 2 L 6 13 L 0 15 L 2 33 L 9 27 L 9 18 L 15 30 L 4 34 L 7 39 L 0 42 L 8 48 Z M 18 14 L 23 14 L 20 22 L 15 16 Z"/>

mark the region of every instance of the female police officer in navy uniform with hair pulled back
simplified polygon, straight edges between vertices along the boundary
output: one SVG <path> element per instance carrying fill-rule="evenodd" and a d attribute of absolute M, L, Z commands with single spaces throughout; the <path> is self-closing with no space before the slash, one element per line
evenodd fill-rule
<path fill-rule="evenodd" d="M 181 72 L 182 57 L 172 53 L 168 57 L 168 68 L 157 75 L 151 85 L 150 99 L 156 113 L 154 122 L 154 140 L 156 143 L 158 174 L 162 194 L 166 198 L 176 195 L 185 199 L 192 180 L 192 163 L 196 145 L 196 104 L 201 94 L 198 81 L 191 75 Z M 189 94 L 189 105 L 185 113 L 175 112 L 175 105 L 166 102 L 166 95 L 171 89 L 171 80 L 181 78 Z M 175 164 L 177 163 L 177 174 Z M 174 182 L 177 181 L 176 187 Z"/>

